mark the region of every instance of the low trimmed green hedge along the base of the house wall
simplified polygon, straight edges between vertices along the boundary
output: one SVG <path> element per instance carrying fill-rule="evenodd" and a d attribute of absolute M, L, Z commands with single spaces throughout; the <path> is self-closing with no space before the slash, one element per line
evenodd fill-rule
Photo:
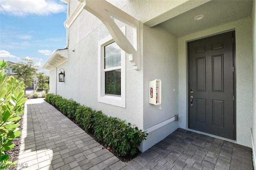
<path fill-rule="evenodd" d="M 98 140 L 108 145 L 116 156 L 134 155 L 148 133 L 126 124 L 116 117 L 108 117 L 101 111 L 81 106 L 72 99 L 65 99 L 59 95 L 46 94 L 46 102 L 56 107 L 60 112 L 76 121 L 87 133 L 91 133 Z"/>

